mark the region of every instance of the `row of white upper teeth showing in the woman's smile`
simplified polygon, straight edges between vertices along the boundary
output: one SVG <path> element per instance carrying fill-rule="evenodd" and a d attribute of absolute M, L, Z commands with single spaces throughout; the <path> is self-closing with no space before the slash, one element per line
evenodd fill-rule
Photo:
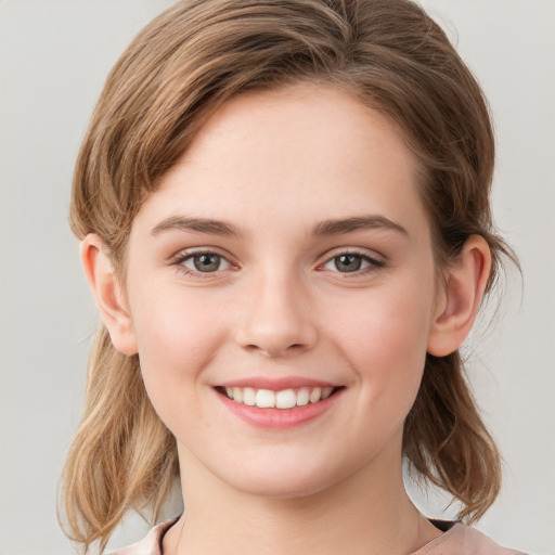
<path fill-rule="evenodd" d="M 225 393 L 237 403 L 259 406 L 260 409 L 293 409 L 305 406 L 309 402 L 318 403 L 327 399 L 333 387 L 301 387 L 300 389 L 254 389 L 253 387 L 227 387 Z"/>

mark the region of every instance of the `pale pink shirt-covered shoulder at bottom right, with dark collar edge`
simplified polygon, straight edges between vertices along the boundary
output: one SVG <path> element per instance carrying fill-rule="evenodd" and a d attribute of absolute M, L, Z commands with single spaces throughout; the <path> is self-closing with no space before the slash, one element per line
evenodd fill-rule
<path fill-rule="evenodd" d="M 495 543 L 485 533 L 460 522 L 437 522 L 446 530 L 413 555 L 525 555 Z"/>

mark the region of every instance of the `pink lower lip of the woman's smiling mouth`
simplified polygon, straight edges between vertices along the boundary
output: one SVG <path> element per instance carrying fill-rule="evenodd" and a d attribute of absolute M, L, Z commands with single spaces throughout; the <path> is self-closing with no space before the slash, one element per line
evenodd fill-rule
<path fill-rule="evenodd" d="M 294 409 L 260 409 L 237 403 L 222 393 L 217 392 L 217 395 L 223 404 L 243 421 L 260 428 L 286 429 L 306 424 L 327 412 L 341 391 L 343 389 L 339 389 L 327 399 L 318 403 L 309 403 L 305 406 L 295 406 Z"/>

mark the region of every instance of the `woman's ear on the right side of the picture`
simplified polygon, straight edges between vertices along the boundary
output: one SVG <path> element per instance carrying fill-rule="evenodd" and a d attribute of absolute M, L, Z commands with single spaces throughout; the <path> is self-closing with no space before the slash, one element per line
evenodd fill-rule
<path fill-rule="evenodd" d="M 491 251 L 479 235 L 472 235 L 447 270 L 441 285 L 427 351 L 436 357 L 454 352 L 470 332 L 491 272 Z"/>

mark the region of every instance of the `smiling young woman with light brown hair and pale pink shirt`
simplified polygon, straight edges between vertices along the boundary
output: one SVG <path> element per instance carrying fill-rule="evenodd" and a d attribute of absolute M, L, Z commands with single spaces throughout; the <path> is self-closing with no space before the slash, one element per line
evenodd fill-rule
<path fill-rule="evenodd" d="M 121 554 L 515 553 L 459 348 L 511 251 L 482 93 L 406 0 L 196 0 L 111 73 L 72 224 L 103 326 L 70 535 Z M 460 503 L 426 519 L 403 460 Z M 465 522 L 465 524 L 463 524 Z"/>

